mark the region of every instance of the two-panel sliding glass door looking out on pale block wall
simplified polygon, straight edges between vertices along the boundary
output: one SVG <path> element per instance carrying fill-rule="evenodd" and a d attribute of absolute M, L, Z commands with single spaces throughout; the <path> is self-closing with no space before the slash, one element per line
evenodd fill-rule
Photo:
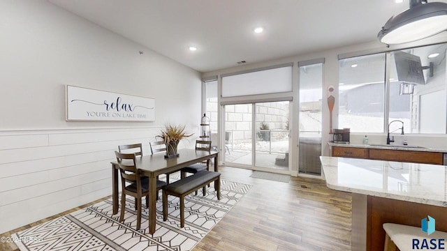
<path fill-rule="evenodd" d="M 289 106 L 289 101 L 225 105 L 226 165 L 288 171 Z"/>

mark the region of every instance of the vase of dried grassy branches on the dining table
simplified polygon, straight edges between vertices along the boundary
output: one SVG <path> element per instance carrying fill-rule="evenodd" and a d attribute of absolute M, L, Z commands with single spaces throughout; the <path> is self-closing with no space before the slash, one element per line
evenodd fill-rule
<path fill-rule="evenodd" d="M 166 145 L 165 158 L 175 158 L 179 154 L 177 153 L 177 146 L 180 140 L 191 137 L 193 133 L 188 134 L 184 130 L 185 126 L 166 124 L 159 135 L 156 135 L 156 139 L 161 139 Z"/>

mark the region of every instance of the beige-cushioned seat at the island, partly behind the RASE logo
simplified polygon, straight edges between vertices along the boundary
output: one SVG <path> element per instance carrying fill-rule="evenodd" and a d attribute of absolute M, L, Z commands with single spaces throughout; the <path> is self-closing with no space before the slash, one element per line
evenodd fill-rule
<path fill-rule="evenodd" d="M 444 243 L 447 241 L 447 233 L 444 231 L 434 231 L 434 233 L 427 235 L 420 230 L 420 227 L 411 227 L 406 225 L 400 225 L 395 223 L 383 224 L 383 229 L 386 231 L 384 251 L 395 250 L 418 250 L 413 249 L 413 239 L 418 239 L 418 247 L 421 247 L 423 239 L 427 239 L 427 245 L 432 246 L 431 239 L 444 239 Z M 436 241 L 438 243 L 438 241 Z M 398 249 L 397 249 L 398 248 Z M 446 245 L 444 245 L 446 248 Z"/>

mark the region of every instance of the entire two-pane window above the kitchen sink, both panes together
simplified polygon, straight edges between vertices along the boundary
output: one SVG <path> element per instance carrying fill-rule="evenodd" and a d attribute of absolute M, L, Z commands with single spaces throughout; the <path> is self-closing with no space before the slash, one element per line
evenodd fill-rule
<path fill-rule="evenodd" d="M 447 132 L 447 44 L 339 60 L 339 128 Z M 387 79 L 388 86 L 383 79 Z M 400 128 L 393 123 L 390 132 Z"/>

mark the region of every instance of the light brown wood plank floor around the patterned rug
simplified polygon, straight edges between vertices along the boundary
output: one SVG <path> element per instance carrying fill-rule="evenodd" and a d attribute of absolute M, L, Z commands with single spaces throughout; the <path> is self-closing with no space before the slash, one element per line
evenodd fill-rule
<path fill-rule="evenodd" d="M 253 187 L 196 245 L 194 251 L 351 250 L 351 194 L 330 190 L 325 181 L 316 178 L 292 177 L 289 183 L 281 183 L 251 178 L 252 171 L 248 169 L 219 167 L 219 172 L 222 178 Z M 18 249 L 12 243 L 0 243 L 0 250 Z"/>

